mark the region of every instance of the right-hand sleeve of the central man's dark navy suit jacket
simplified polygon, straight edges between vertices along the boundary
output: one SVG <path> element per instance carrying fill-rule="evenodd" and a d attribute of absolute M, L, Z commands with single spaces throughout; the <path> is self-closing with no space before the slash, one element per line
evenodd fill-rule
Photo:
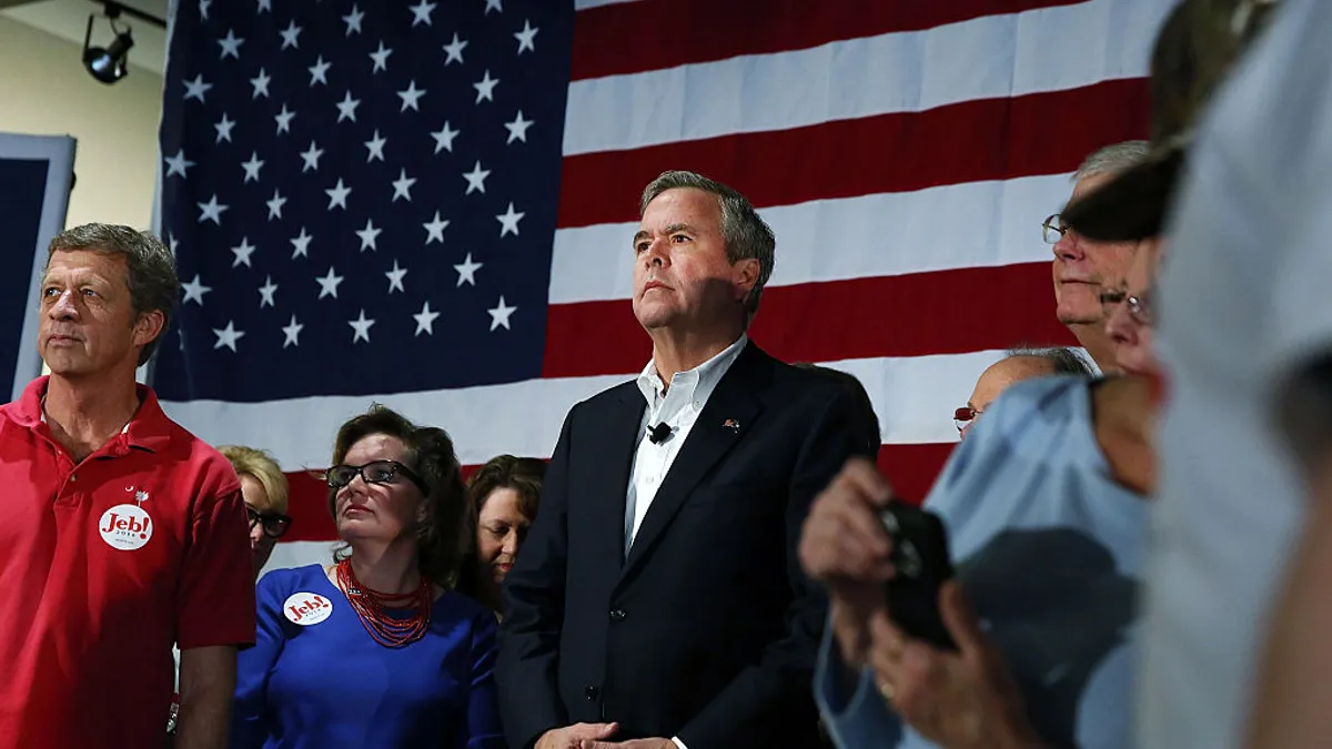
<path fill-rule="evenodd" d="M 827 597 L 805 576 L 797 546 L 814 497 L 852 454 L 866 454 L 870 438 L 855 426 L 854 401 L 839 392 L 814 418 L 791 472 L 786 512 L 786 573 L 793 600 L 786 612 L 786 634 L 767 646 L 759 662 L 742 670 L 679 732 L 689 749 L 723 749 L 753 742 L 769 726 L 786 725 L 791 714 L 815 720 L 810 685 L 819 640 L 827 618 Z M 813 726 L 811 726 L 813 728 Z M 741 741 L 743 740 L 743 741 Z M 779 737 L 774 737 L 779 741 Z"/>

